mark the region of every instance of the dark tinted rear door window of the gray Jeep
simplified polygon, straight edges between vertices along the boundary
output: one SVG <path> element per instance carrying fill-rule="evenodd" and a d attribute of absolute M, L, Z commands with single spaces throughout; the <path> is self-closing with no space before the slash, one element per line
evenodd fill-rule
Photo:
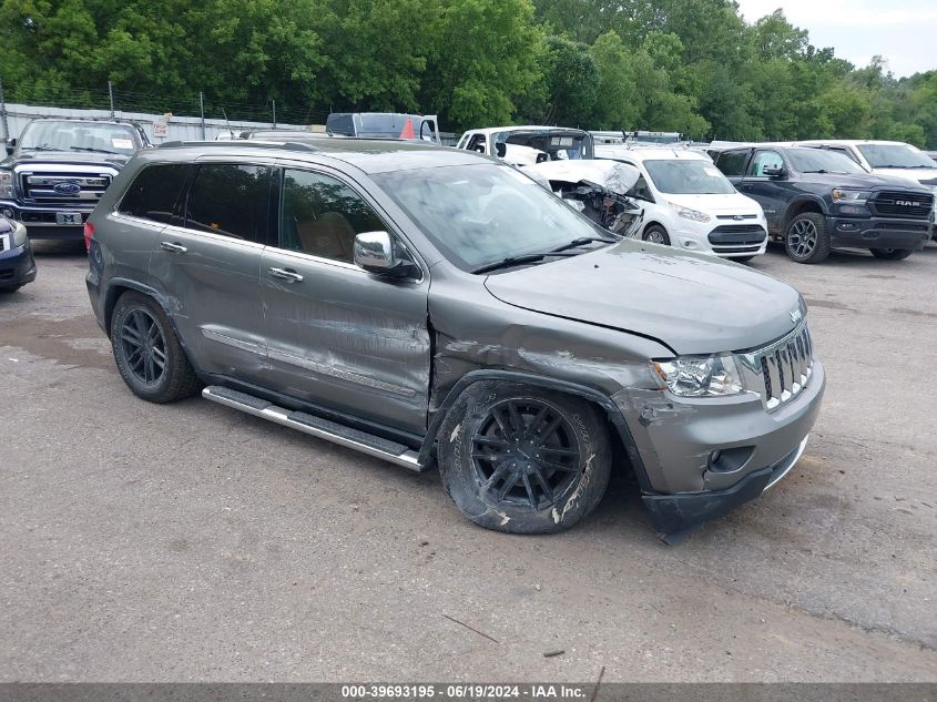
<path fill-rule="evenodd" d="M 189 190 L 185 226 L 266 243 L 269 176 L 267 166 L 200 165 Z"/>

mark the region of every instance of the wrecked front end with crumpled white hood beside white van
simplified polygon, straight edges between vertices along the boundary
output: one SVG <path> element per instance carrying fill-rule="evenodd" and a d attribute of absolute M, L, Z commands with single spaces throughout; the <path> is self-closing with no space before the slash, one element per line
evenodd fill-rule
<path fill-rule="evenodd" d="M 641 172 L 617 161 L 544 161 L 521 171 L 604 228 L 632 236 L 643 208 L 628 193 Z"/>

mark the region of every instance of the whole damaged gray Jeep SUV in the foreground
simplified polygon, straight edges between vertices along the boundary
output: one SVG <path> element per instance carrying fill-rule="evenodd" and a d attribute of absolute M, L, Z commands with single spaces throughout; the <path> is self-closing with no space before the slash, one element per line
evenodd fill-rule
<path fill-rule="evenodd" d="M 86 225 L 140 397 L 192 395 L 414 470 L 502 531 L 569 528 L 630 466 L 658 528 L 796 462 L 824 372 L 795 289 L 620 241 L 520 172 L 425 144 L 166 144 Z"/>

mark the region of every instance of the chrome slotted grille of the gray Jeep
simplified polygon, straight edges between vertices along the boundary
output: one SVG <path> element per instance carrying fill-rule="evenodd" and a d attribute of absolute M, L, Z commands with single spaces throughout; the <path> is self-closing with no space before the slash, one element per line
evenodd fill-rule
<path fill-rule="evenodd" d="M 761 395 L 765 409 L 790 403 L 813 375 L 813 343 L 807 323 L 774 344 L 739 357 L 746 387 Z"/>

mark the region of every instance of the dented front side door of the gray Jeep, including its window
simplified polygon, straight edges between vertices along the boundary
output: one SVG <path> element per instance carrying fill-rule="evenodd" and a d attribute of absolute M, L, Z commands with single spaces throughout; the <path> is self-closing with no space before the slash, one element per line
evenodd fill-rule
<path fill-rule="evenodd" d="M 336 175 L 282 171 L 276 246 L 261 287 L 272 388 L 421 434 L 429 390 L 429 281 L 383 279 L 353 261 L 355 235 L 386 217 Z"/>

